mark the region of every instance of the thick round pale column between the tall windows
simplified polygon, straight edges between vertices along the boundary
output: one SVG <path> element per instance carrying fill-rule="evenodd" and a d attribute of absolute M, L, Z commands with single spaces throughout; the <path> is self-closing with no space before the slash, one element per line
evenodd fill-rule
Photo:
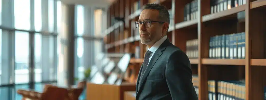
<path fill-rule="evenodd" d="M 74 84 L 74 17 L 75 5 L 61 3 L 61 27 L 59 29 L 59 66 L 57 69 L 58 85 Z"/>

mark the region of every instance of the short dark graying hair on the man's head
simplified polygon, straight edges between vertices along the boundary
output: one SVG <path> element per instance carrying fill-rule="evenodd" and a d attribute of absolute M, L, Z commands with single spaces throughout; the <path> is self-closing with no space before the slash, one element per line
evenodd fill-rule
<path fill-rule="evenodd" d="M 142 7 L 142 10 L 145 9 L 155 9 L 159 11 L 159 20 L 167 22 L 170 24 L 170 18 L 169 18 L 169 12 L 167 10 L 167 7 L 162 4 L 156 4 L 156 3 L 148 3 Z"/>

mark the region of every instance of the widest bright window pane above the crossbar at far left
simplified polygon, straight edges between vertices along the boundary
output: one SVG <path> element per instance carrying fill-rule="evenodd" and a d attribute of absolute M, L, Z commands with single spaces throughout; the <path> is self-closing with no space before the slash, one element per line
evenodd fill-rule
<path fill-rule="evenodd" d="M 15 28 L 30 30 L 30 0 L 14 0 Z"/>

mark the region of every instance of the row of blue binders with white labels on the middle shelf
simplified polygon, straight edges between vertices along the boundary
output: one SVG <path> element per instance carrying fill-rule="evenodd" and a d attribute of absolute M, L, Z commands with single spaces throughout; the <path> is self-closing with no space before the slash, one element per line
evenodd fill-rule
<path fill-rule="evenodd" d="M 245 32 L 210 37 L 209 58 L 245 59 Z"/>

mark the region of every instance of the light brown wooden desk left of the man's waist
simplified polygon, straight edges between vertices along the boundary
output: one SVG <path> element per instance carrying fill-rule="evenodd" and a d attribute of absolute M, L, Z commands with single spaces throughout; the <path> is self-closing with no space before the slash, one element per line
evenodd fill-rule
<path fill-rule="evenodd" d="M 136 91 L 135 83 L 121 85 L 87 83 L 87 100 L 123 100 L 124 91 Z"/>

